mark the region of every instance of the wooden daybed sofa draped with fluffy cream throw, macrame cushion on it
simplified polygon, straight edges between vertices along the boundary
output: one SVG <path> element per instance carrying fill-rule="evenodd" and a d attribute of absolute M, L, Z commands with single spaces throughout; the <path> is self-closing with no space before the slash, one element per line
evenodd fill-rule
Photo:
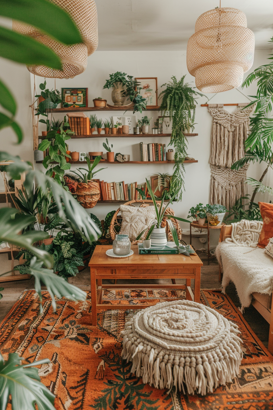
<path fill-rule="evenodd" d="M 266 319 L 270 324 L 268 350 L 273 354 L 273 259 L 257 247 L 262 224 L 243 220 L 223 225 L 216 256 L 223 274 L 223 293 L 228 283 L 234 282 L 241 312 L 252 303 Z"/>

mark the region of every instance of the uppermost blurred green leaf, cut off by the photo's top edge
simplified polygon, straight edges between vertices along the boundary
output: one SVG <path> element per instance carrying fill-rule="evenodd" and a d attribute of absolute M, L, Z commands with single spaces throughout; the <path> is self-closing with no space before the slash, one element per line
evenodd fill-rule
<path fill-rule="evenodd" d="M 49 1 L 0 0 L 0 10 L 2 16 L 34 25 L 61 43 L 70 45 L 82 42 L 72 18 L 61 7 Z"/>

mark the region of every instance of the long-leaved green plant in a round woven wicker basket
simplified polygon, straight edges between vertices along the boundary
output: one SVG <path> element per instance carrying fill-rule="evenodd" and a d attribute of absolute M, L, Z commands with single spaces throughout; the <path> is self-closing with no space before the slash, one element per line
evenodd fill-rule
<path fill-rule="evenodd" d="M 93 181 L 93 176 L 99 172 L 102 171 L 102 169 L 105 168 L 100 168 L 97 171 L 93 172 L 93 169 L 99 161 L 102 159 L 100 155 L 98 155 L 95 159 L 93 164 L 91 165 L 90 158 L 85 157 L 88 169 L 86 168 L 79 168 L 77 171 L 71 171 L 74 174 L 78 175 L 79 178 L 81 178 L 81 182 L 78 182 L 77 188 L 76 188 L 76 195 L 78 201 L 81 203 L 81 205 L 84 208 L 93 208 L 97 201 L 99 200 L 99 195 L 100 195 L 100 190 L 99 190 L 99 184 L 97 181 Z M 80 170 L 86 171 L 86 173 L 82 173 Z"/>

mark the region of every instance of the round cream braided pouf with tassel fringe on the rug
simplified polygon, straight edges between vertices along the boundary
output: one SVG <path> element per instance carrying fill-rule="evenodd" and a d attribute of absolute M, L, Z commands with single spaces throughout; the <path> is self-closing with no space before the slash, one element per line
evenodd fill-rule
<path fill-rule="evenodd" d="M 184 385 L 205 395 L 231 383 L 243 357 L 238 326 L 191 301 L 163 302 L 140 310 L 125 324 L 122 358 L 131 373 L 156 388 Z"/>

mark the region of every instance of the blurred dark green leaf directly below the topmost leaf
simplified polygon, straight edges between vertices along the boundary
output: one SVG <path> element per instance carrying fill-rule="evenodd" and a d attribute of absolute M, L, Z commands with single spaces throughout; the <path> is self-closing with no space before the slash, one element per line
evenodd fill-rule
<path fill-rule="evenodd" d="M 23 36 L 5 27 L 0 27 L 0 56 L 27 65 L 42 64 L 57 70 L 62 69 L 61 60 L 50 48 L 32 37 Z"/>

